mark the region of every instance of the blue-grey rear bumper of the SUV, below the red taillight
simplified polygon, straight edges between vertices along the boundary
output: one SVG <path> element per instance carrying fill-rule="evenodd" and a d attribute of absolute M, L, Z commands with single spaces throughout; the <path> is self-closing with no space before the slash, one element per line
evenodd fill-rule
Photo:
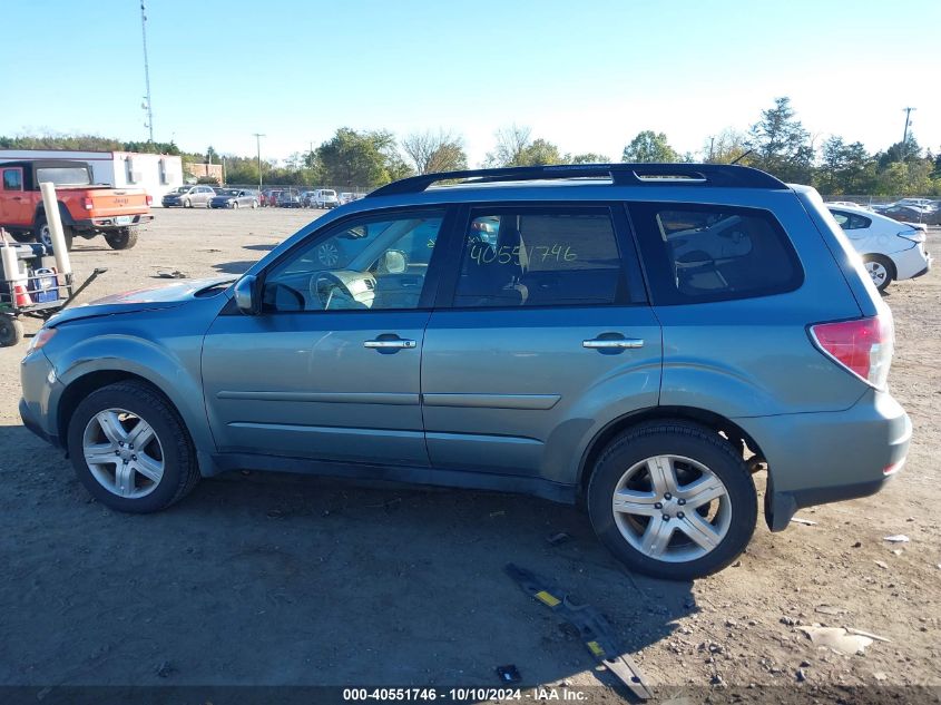
<path fill-rule="evenodd" d="M 904 463 L 912 423 L 888 392 L 845 411 L 735 419 L 768 463 L 765 520 L 786 528 L 802 507 L 874 495 Z"/>

